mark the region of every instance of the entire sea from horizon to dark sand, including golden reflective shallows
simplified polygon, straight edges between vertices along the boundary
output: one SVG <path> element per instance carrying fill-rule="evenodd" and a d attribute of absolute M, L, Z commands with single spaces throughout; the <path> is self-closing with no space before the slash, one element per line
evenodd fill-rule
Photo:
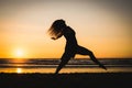
<path fill-rule="evenodd" d="M 107 70 L 91 59 L 74 58 L 59 73 L 132 73 L 132 58 L 101 58 Z M 56 58 L 0 58 L 0 73 L 55 73 L 61 59 Z"/>

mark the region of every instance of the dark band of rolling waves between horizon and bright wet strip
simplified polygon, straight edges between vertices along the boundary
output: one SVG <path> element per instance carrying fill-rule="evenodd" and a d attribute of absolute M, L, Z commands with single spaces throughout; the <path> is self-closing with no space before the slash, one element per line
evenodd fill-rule
<path fill-rule="evenodd" d="M 29 58 L 25 62 L 13 62 L 14 59 L 0 58 L 0 68 L 54 68 L 61 63 L 59 59 Z M 99 59 L 107 67 L 132 67 L 132 59 L 129 58 L 103 58 Z M 66 67 L 98 67 L 92 61 L 86 58 L 70 59 Z"/>

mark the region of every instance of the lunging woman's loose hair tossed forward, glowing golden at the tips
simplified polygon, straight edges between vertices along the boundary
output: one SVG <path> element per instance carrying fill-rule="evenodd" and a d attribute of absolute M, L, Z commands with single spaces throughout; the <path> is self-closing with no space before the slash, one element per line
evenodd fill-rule
<path fill-rule="evenodd" d="M 62 34 L 63 28 L 65 28 L 65 21 L 64 20 L 56 20 L 53 22 L 52 26 L 47 31 L 48 34 L 53 37 L 57 37 Z"/>

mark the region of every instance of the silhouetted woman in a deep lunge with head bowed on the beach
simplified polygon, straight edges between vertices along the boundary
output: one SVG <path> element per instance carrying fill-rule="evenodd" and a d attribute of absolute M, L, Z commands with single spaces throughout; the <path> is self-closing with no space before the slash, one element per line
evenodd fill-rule
<path fill-rule="evenodd" d="M 57 40 L 63 35 L 66 38 L 65 52 L 61 58 L 61 64 L 57 67 L 55 74 L 58 74 L 58 72 L 68 63 L 68 61 L 72 57 L 74 58 L 76 54 L 89 55 L 90 58 L 96 64 L 99 65 L 99 67 L 107 69 L 102 64 L 100 64 L 96 59 L 91 51 L 78 45 L 76 36 L 75 36 L 76 35 L 75 31 L 70 26 L 67 26 L 64 20 L 54 21 L 52 26 L 48 30 L 48 33 L 52 36 L 52 40 Z"/>

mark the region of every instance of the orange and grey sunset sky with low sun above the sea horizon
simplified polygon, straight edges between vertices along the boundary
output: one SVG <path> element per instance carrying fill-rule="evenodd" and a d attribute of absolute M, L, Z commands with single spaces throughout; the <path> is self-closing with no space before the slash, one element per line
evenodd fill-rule
<path fill-rule="evenodd" d="M 59 58 L 65 38 L 53 41 L 47 34 L 57 19 L 64 19 L 78 44 L 96 57 L 132 57 L 130 1 L 0 0 L 0 58 Z"/>

